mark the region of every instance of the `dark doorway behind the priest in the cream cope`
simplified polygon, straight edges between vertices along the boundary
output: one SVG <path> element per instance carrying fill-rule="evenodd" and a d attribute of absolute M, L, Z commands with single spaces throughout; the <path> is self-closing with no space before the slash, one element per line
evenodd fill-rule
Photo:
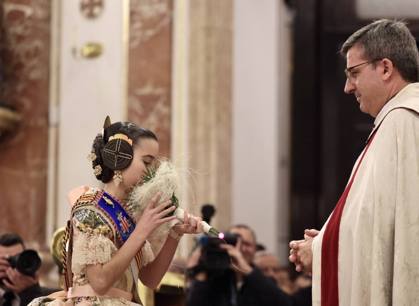
<path fill-rule="evenodd" d="M 346 60 L 339 50 L 372 20 L 356 17 L 352 0 L 294 0 L 291 144 L 291 239 L 321 229 L 365 147 L 374 118 L 344 93 Z M 409 20 L 413 35 L 419 22 Z"/>

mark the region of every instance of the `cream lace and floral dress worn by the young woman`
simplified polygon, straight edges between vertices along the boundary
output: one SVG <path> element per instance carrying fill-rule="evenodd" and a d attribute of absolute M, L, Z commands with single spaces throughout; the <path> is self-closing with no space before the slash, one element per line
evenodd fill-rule
<path fill-rule="evenodd" d="M 88 191 L 89 192 L 89 191 Z M 72 218 L 72 273 L 73 287 L 89 285 L 85 266 L 109 262 L 121 247 L 115 238 L 115 229 L 107 217 L 94 206 L 83 205 L 76 208 Z M 141 267 L 154 259 L 150 244 L 142 248 Z M 113 285 L 114 288 L 132 293 L 134 277 L 131 267 Z M 139 305 L 124 298 L 109 296 L 78 296 L 70 298 L 41 297 L 34 299 L 31 306 L 123 306 Z"/>

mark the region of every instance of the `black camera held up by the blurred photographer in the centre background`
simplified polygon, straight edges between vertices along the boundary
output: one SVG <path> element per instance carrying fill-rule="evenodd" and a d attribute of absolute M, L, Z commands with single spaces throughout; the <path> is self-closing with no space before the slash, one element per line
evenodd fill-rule
<path fill-rule="evenodd" d="M 202 237 L 202 259 L 200 265 L 202 270 L 220 271 L 228 270 L 231 258 L 227 250 L 220 248 L 221 244 L 236 245 L 238 234 L 225 233 L 224 238 Z"/>

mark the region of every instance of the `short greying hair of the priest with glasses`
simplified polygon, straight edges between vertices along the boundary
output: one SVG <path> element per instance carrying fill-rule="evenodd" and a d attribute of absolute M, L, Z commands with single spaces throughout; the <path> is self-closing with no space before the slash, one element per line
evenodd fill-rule
<path fill-rule="evenodd" d="M 353 33 L 342 46 L 341 55 L 355 45 L 363 47 L 362 59 L 390 59 L 403 80 L 417 82 L 419 53 L 416 41 L 404 19 L 380 19 Z M 376 62 L 374 69 L 377 67 Z"/>

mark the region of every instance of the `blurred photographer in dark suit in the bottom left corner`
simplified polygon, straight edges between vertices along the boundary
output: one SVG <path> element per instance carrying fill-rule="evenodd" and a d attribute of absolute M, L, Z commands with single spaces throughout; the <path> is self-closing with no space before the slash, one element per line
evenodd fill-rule
<path fill-rule="evenodd" d="M 34 298 L 45 295 L 38 283 L 38 271 L 34 277 L 24 275 L 8 261 L 24 250 L 25 244 L 18 234 L 0 234 L 0 306 L 26 306 Z"/>

